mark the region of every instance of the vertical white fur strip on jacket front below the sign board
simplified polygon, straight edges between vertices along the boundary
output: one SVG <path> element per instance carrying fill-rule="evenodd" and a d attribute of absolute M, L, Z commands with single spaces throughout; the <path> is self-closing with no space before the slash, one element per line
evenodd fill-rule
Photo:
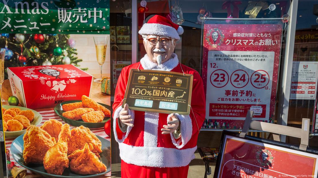
<path fill-rule="evenodd" d="M 143 133 L 144 147 L 157 147 L 159 113 L 145 112 Z"/>

